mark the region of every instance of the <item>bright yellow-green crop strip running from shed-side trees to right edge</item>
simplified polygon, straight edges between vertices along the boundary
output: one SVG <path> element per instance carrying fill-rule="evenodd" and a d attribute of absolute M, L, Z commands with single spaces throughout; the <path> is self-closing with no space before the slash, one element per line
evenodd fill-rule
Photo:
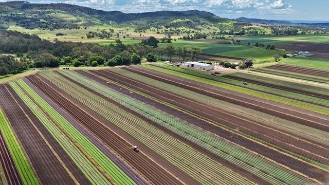
<path fill-rule="evenodd" d="M 297 101 L 297 100 L 291 100 L 291 99 L 288 99 L 288 98 L 279 97 L 279 96 L 275 96 L 275 95 L 270 95 L 270 94 L 262 93 L 262 92 L 257 91 L 257 90 L 251 90 L 251 89 L 247 89 L 247 88 L 244 88 L 244 87 L 237 87 L 237 86 L 234 86 L 234 85 L 229 85 L 229 84 L 225 84 L 225 83 L 222 83 L 222 82 L 217 82 L 217 81 L 214 81 L 214 80 L 209 80 L 209 79 L 205 79 L 205 78 L 201 78 L 201 77 L 196 77 L 196 76 L 188 75 L 188 74 L 185 74 L 185 73 L 181 73 L 181 72 L 177 72 L 177 71 L 173 71 L 173 70 L 169 70 L 169 69 L 163 69 L 163 68 L 156 67 L 156 66 L 144 65 L 143 67 L 148 68 L 148 69 L 152 69 L 152 70 L 156 70 L 156 71 L 160 71 L 160 72 L 165 72 L 165 73 L 168 73 L 169 75 L 174 75 L 174 76 L 177 76 L 177 77 L 181 77 L 181 78 L 185 78 L 185 79 L 189 79 L 189 80 L 194 80 L 196 82 L 200 82 L 200 83 L 204 83 L 204 84 L 208 84 L 208 85 L 213 85 L 213 86 L 225 88 L 225 89 L 228 89 L 228 90 L 233 90 L 233 91 L 236 91 L 238 93 L 245 94 L 245 95 L 250 95 L 250 96 L 254 96 L 254 97 L 258 97 L 258 98 L 262 98 L 262 99 L 266 99 L 266 100 L 270 100 L 270 101 L 275 101 L 275 102 L 278 102 L 278 103 L 283 103 L 283 104 L 296 106 L 296 107 L 307 109 L 307 110 L 312 110 L 312 111 L 317 112 L 317 113 L 329 115 L 329 108 L 324 108 L 322 106 L 318 106 L 318 105 L 314 105 L 314 104 L 310 104 L 310 103 L 305 103 L 305 102 L 300 102 L 300 101 Z"/>

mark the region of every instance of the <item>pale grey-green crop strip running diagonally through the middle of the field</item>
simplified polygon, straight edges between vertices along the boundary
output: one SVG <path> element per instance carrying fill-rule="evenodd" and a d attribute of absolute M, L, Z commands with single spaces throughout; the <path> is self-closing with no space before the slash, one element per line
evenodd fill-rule
<path fill-rule="evenodd" d="M 264 178 L 269 182 L 275 184 L 280 184 L 282 183 L 282 181 L 290 181 L 291 183 L 301 182 L 299 176 L 296 177 L 295 174 L 287 172 L 281 167 L 278 167 L 277 165 L 272 164 L 260 158 L 259 156 L 253 155 L 234 145 L 233 143 L 230 143 L 222 138 L 215 137 L 212 134 L 204 132 L 198 127 L 192 126 L 191 124 L 185 121 L 168 115 L 143 102 L 132 99 L 125 95 L 121 95 L 120 93 L 112 89 L 109 89 L 99 83 L 90 81 L 86 78 L 72 76 L 71 78 L 74 78 L 80 83 L 85 83 L 85 85 L 96 89 L 104 96 L 115 100 L 116 102 L 122 104 L 125 107 L 129 107 L 140 115 L 148 117 L 159 125 L 164 126 L 169 130 L 173 131 L 174 133 L 181 135 L 200 146 L 205 147 L 207 150 L 213 152 L 221 158 L 224 158 L 233 164 L 239 165 L 245 170 L 261 178 Z"/>

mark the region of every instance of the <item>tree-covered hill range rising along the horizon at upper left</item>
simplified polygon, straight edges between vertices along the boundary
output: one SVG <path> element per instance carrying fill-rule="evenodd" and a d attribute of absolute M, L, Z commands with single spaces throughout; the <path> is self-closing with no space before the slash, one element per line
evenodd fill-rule
<path fill-rule="evenodd" d="M 0 3 L 0 18 L 2 27 L 6 23 L 13 23 L 29 29 L 77 28 L 105 23 L 196 28 L 200 25 L 231 22 L 213 13 L 198 10 L 123 13 L 64 3 L 34 4 L 22 1 Z"/>

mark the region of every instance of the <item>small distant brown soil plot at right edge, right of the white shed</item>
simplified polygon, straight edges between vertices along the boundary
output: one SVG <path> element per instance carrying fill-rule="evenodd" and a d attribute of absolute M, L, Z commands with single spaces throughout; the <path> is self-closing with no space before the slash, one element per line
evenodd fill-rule
<path fill-rule="evenodd" d="M 328 65 L 329 65 L 329 62 L 328 62 Z M 298 73 L 303 73 L 303 74 L 307 74 L 307 75 L 314 75 L 314 76 L 329 78 L 329 71 L 307 69 L 307 68 L 302 68 L 302 67 L 297 67 L 297 66 L 287 66 L 287 65 L 273 65 L 273 66 L 269 66 L 267 68 L 279 69 L 279 70 L 285 70 L 285 71 L 291 71 L 291 72 L 298 72 Z"/>

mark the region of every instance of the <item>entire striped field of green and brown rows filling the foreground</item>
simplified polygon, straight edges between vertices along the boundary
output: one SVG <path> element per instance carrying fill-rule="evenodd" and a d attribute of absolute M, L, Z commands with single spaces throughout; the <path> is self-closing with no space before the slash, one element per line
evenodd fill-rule
<path fill-rule="evenodd" d="M 0 185 L 326 184 L 329 90 L 169 65 L 45 70 L 0 84 L 0 152 Z"/>

